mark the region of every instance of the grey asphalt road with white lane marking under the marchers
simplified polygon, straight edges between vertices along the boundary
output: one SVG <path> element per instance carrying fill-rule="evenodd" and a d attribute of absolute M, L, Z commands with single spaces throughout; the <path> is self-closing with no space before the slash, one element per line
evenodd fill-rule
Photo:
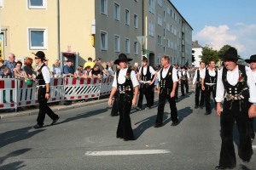
<path fill-rule="evenodd" d="M 156 96 L 149 111 L 134 107 L 134 141 L 115 138 L 119 117 L 109 116 L 107 103 L 57 112 L 61 118 L 55 126 L 46 116 L 38 130 L 32 128 L 37 116 L 0 120 L 0 169 L 214 169 L 221 144 L 219 116 L 214 109 L 209 116 L 205 108 L 194 109 L 194 97 L 191 90 L 179 98 L 177 127 L 170 126 L 168 105 L 163 127 L 152 127 Z M 249 163 L 237 156 L 236 127 L 234 139 L 237 169 L 256 169 L 255 154 Z"/>

